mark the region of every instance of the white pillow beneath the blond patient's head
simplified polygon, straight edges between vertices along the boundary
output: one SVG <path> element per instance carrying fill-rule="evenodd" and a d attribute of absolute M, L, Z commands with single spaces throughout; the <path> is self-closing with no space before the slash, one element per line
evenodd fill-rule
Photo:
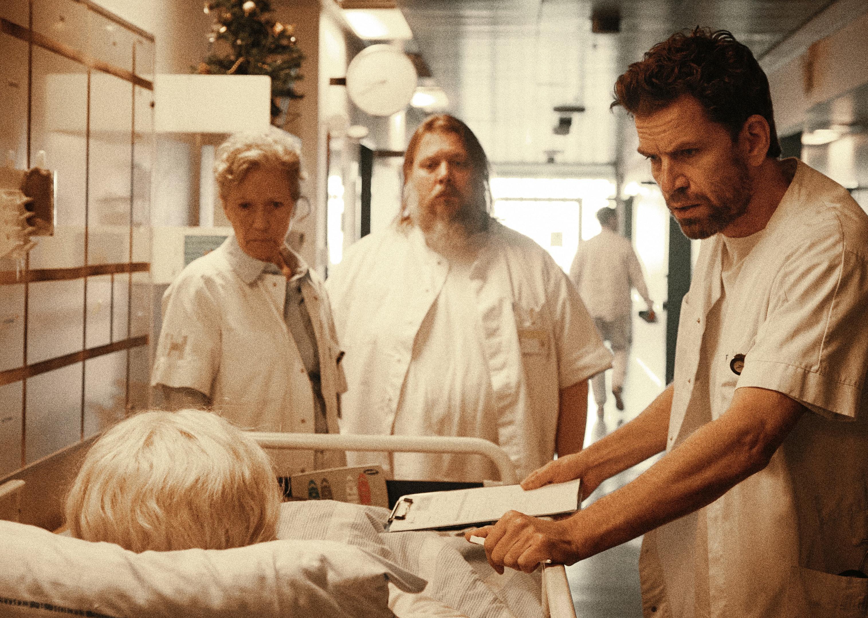
<path fill-rule="evenodd" d="M 387 616 L 391 582 L 425 581 L 381 556 L 331 541 L 235 550 L 145 551 L 0 521 L 0 615 Z"/>

